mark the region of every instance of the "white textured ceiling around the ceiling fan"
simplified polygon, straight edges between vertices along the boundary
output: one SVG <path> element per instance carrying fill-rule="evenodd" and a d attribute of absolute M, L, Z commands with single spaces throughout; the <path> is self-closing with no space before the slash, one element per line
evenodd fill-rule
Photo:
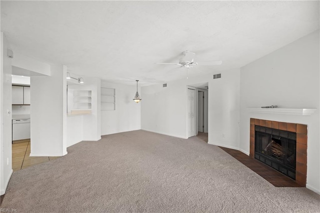
<path fill-rule="evenodd" d="M 12 50 L 72 73 L 148 85 L 239 68 L 319 28 L 319 1 L 3 1 Z M 192 57 L 192 56 L 189 56 Z"/>

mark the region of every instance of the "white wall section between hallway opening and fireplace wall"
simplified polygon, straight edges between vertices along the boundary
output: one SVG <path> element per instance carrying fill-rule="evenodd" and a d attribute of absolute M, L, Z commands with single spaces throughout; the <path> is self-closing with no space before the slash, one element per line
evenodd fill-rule
<path fill-rule="evenodd" d="M 208 88 L 208 143 L 238 149 L 240 70 L 221 72 Z"/>

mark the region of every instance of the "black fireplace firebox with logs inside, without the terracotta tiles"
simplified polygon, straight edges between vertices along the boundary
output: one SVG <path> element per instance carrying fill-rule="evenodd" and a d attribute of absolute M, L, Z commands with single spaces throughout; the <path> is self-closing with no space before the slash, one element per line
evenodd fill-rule
<path fill-rule="evenodd" d="M 296 133 L 254 126 L 254 158 L 295 180 Z"/>

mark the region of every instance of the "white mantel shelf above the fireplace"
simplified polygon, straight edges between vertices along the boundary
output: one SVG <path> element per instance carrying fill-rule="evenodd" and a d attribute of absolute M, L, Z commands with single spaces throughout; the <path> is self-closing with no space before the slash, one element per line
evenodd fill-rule
<path fill-rule="evenodd" d="M 303 108 L 245 108 L 243 110 L 255 113 L 283 115 L 311 115 L 316 111 L 316 109 Z"/>

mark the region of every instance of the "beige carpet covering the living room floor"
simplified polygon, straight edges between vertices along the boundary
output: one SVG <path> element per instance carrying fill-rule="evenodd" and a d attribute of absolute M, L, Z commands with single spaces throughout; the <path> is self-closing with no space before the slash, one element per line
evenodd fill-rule
<path fill-rule="evenodd" d="M 17 212 L 319 212 L 306 188 L 275 188 L 197 137 L 145 131 L 81 142 L 14 172 L 1 208 Z"/>

